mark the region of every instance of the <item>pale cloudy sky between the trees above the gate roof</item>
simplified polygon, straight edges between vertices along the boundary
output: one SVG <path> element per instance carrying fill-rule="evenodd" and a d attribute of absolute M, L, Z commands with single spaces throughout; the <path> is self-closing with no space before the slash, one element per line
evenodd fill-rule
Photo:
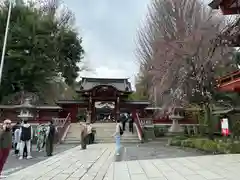
<path fill-rule="evenodd" d="M 84 61 L 91 68 L 80 76 L 130 78 L 138 72 L 137 29 L 150 0 L 64 0 L 75 14 L 83 38 Z"/>

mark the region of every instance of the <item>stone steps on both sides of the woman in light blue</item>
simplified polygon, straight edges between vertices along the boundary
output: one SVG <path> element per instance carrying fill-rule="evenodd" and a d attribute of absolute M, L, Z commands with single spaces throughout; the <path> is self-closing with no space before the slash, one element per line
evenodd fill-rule
<path fill-rule="evenodd" d="M 115 139 L 112 135 L 116 129 L 116 123 L 94 123 L 93 127 L 96 129 L 95 142 L 96 143 L 114 143 Z M 128 127 L 121 137 L 122 143 L 139 143 L 136 129 L 134 134 L 128 131 Z"/>

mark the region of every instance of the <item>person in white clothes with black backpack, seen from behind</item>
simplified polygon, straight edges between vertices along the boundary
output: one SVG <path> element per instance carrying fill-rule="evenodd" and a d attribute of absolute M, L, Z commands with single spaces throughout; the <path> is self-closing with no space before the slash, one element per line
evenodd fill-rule
<path fill-rule="evenodd" d="M 31 159 L 31 140 L 33 138 L 33 129 L 32 126 L 27 122 L 23 121 L 22 126 L 20 127 L 20 157 L 23 159 L 24 147 L 27 147 L 27 159 Z"/>

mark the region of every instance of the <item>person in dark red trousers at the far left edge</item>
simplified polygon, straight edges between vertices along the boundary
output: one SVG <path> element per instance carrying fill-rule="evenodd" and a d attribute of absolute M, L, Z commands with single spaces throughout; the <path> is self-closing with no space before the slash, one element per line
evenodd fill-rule
<path fill-rule="evenodd" d="M 0 175 L 2 178 L 4 178 L 2 170 L 12 146 L 11 123 L 9 119 L 4 120 L 3 127 L 0 130 Z"/>

